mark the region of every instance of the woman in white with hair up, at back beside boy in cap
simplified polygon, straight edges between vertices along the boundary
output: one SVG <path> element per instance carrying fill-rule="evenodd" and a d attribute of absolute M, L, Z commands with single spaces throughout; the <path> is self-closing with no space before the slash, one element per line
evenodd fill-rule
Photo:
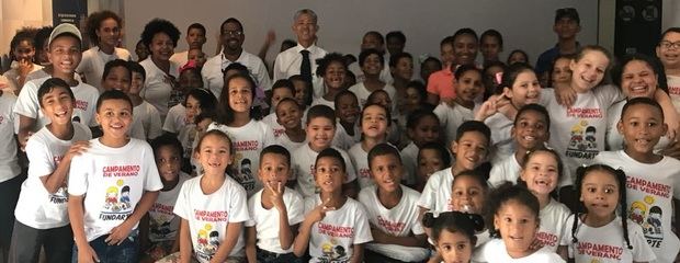
<path fill-rule="evenodd" d="M 104 65 L 114 59 L 132 59 L 127 49 L 117 47 L 121 28 L 123 19 L 109 10 L 94 12 L 88 18 L 88 36 L 94 46 L 82 53 L 76 72 L 83 77 L 86 83 L 97 88 L 99 93 L 104 92 L 101 83 Z"/>

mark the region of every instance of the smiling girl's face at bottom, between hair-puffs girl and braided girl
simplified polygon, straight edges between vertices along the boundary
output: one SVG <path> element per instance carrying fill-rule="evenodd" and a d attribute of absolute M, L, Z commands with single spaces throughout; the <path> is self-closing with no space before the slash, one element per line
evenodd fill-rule
<path fill-rule="evenodd" d="M 494 227 L 499 230 L 510 256 L 529 255 L 531 243 L 539 230 L 539 216 L 515 199 L 507 201 L 494 215 Z"/>

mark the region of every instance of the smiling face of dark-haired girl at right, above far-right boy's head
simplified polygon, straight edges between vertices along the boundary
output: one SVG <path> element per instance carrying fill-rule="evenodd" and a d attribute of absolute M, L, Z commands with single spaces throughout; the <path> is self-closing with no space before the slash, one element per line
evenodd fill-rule
<path fill-rule="evenodd" d="M 658 84 L 658 76 L 643 60 L 631 60 L 621 73 L 621 90 L 628 99 L 644 96 L 654 99 Z"/>

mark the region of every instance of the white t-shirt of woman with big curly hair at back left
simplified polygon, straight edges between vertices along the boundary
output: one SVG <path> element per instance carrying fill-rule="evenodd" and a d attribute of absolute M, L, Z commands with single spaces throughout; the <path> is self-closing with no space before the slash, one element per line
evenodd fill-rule
<path fill-rule="evenodd" d="M 161 121 L 165 122 L 166 115 L 168 114 L 168 102 L 170 101 L 170 93 L 172 92 L 172 83 L 167 80 L 167 75 L 154 64 L 151 57 L 139 62 L 139 65 L 146 70 L 144 89 L 141 89 L 139 95 L 158 110 Z M 170 70 L 168 73 L 179 81 L 180 72 L 178 65 L 170 61 Z"/>

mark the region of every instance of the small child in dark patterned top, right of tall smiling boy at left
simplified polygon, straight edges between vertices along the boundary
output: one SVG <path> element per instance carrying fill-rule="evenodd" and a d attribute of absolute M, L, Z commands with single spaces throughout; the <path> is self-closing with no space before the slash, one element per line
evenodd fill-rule
<path fill-rule="evenodd" d="M 158 198 L 141 218 L 139 228 L 143 262 L 157 261 L 180 250 L 180 217 L 172 210 L 184 181 L 191 176 L 182 171 L 182 145 L 172 135 L 161 135 L 151 140 L 156 167 L 163 187 Z"/>

